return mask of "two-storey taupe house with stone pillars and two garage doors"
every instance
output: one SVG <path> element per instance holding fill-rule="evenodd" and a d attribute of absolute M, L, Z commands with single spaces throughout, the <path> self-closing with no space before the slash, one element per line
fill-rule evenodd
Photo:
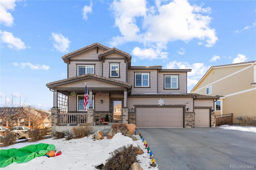
<path fill-rule="evenodd" d="M 100 43 L 62 59 L 67 64 L 67 79 L 46 84 L 54 93 L 52 126 L 56 128 L 100 125 L 106 114 L 112 123 L 137 127 L 214 127 L 212 110 L 218 97 L 187 93 L 191 69 L 132 66 L 130 54 Z M 87 111 L 83 109 L 85 83 Z"/>

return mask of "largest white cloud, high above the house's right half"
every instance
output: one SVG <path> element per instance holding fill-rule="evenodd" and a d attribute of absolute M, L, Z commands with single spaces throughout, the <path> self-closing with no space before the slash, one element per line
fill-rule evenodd
<path fill-rule="evenodd" d="M 198 39 L 206 42 L 206 47 L 216 43 L 216 31 L 210 28 L 212 18 L 207 15 L 211 8 L 202 8 L 203 4 L 192 6 L 186 0 L 164 3 L 155 1 L 154 6 L 147 6 L 146 0 L 115 0 L 111 9 L 121 35 L 113 37 L 111 45 L 140 42 L 144 49 L 158 50 L 154 53 L 160 55 L 159 49 L 164 50 L 168 42 L 177 40 L 188 43 Z"/>

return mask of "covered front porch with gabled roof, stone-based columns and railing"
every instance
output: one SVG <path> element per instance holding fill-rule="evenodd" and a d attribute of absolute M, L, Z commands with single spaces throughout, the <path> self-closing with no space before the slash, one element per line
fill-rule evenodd
<path fill-rule="evenodd" d="M 88 105 L 83 109 L 85 83 Z M 53 91 L 52 126 L 102 125 L 108 114 L 110 123 L 128 123 L 127 96 L 132 85 L 85 74 L 47 84 Z"/>

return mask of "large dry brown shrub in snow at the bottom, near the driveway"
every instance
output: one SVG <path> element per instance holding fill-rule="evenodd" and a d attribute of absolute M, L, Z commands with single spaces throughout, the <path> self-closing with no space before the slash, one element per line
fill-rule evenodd
<path fill-rule="evenodd" d="M 129 170 L 130 166 L 137 161 L 138 148 L 132 146 L 123 146 L 122 150 L 111 152 L 112 158 L 108 159 L 102 170 Z"/>

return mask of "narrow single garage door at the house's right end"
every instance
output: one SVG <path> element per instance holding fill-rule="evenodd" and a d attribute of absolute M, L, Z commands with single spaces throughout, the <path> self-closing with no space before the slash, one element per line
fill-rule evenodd
<path fill-rule="evenodd" d="M 195 109 L 195 127 L 210 127 L 209 109 Z"/>

